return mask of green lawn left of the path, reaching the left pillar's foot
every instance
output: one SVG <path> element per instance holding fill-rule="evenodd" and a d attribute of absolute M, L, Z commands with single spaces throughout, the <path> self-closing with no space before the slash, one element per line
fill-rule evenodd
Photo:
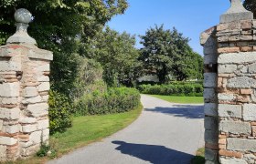
<path fill-rule="evenodd" d="M 140 106 L 129 112 L 73 118 L 72 127 L 63 133 L 50 136 L 50 148 L 57 150 L 57 157 L 67 154 L 69 151 L 84 147 L 91 142 L 111 136 L 113 133 L 127 127 L 139 117 L 143 107 Z M 49 158 L 34 157 L 9 164 L 45 163 Z"/>

